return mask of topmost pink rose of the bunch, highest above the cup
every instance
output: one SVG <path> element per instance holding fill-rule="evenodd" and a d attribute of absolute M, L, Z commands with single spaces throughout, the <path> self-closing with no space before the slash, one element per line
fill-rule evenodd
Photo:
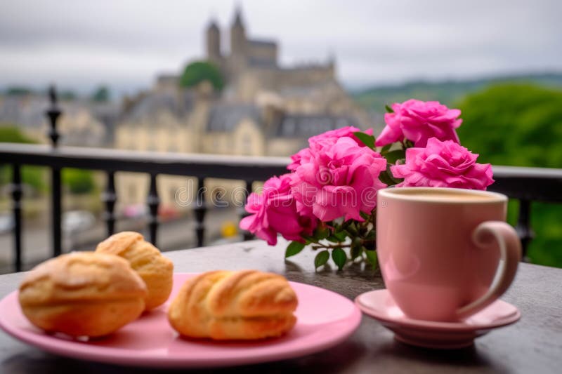
<path fill-rule="evenodd" d="M 384 114 L 384 127 L 375 145 L 381 147 L 405 138 L 415 147 L 425 147 L 429 138 L 459 142 L 455 128 L 461 126 L 459 109 L 449 109 L 438 101 L 410 99 L 392 105 L 394 113 Z"/>

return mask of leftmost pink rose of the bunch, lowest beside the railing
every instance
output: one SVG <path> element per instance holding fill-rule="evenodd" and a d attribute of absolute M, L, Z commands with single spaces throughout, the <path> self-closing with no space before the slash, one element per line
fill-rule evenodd
<path fill-rule="evenodd" d="M 261 194 L 252 192 L 246 203 L 246 211 L 252 214 L 240 220 L 240 228 L 256 234 L 271 246 L 277 243 L 277 233 L 297 241 L 303 240 L 301 233 L 310 235 L 316 222 L 296 212 L 289 182 L 289 174 L 273 177 L 265 182 Z"/>

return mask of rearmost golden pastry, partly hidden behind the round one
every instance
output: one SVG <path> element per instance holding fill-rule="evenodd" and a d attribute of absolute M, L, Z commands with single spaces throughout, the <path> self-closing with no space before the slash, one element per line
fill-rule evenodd
<path fill-rule="evenodd" d="M 96 253 L 110 253 L 129 261 L 148 288 L 147 310 L 168 300 L 174 282 L 174 264 L 138 232 L 124 231 L 112 235 L 98 244 Z"/>

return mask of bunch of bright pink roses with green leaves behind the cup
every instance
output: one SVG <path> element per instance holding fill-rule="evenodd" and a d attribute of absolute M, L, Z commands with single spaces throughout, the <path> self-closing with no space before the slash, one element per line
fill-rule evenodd
<path fill-rule="evenodd" d="M 386 126 L 346 127 L 308 140 L 291 156 L 289 173 L 270 178 L 251 193 L 249 215 L 240 221 L 270 245 L 277 234 L 292 241 L 285 257 L 310 245 L 315 267 L 331 257 L 339 269 L 367 260 L 377 267 L 377 191 L 386 187 L 486 189 L 494 182 L 489 163 L 462 147 L 455 131 L 459 109 L 439 102 L 407 100 L 386 107 Z"/>

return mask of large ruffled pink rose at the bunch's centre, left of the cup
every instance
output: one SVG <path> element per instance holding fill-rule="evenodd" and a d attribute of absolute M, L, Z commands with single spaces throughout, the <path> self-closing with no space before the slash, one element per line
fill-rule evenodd
<path fill-rule="evenodd" d="M 379 181 L 384 170 L 386 160 L 352 138 L 325 142 L 322 149 L 310 150 L 291 174 L 296 209 L 323 222 L 340 217 L 362 221 L 360 212 L 371 213 L 377 190 L 386 187 Z"/>

